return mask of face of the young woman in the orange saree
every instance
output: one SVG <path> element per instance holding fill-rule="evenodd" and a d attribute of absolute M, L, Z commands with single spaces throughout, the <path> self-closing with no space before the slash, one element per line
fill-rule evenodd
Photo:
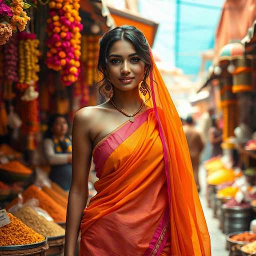
<path fill-rule="evenodd" d="M 132 43 L 116 41 L 107 56 L 108 79 L 120 90 L 134 89 L 144 77 L 145 63 Z"/>

